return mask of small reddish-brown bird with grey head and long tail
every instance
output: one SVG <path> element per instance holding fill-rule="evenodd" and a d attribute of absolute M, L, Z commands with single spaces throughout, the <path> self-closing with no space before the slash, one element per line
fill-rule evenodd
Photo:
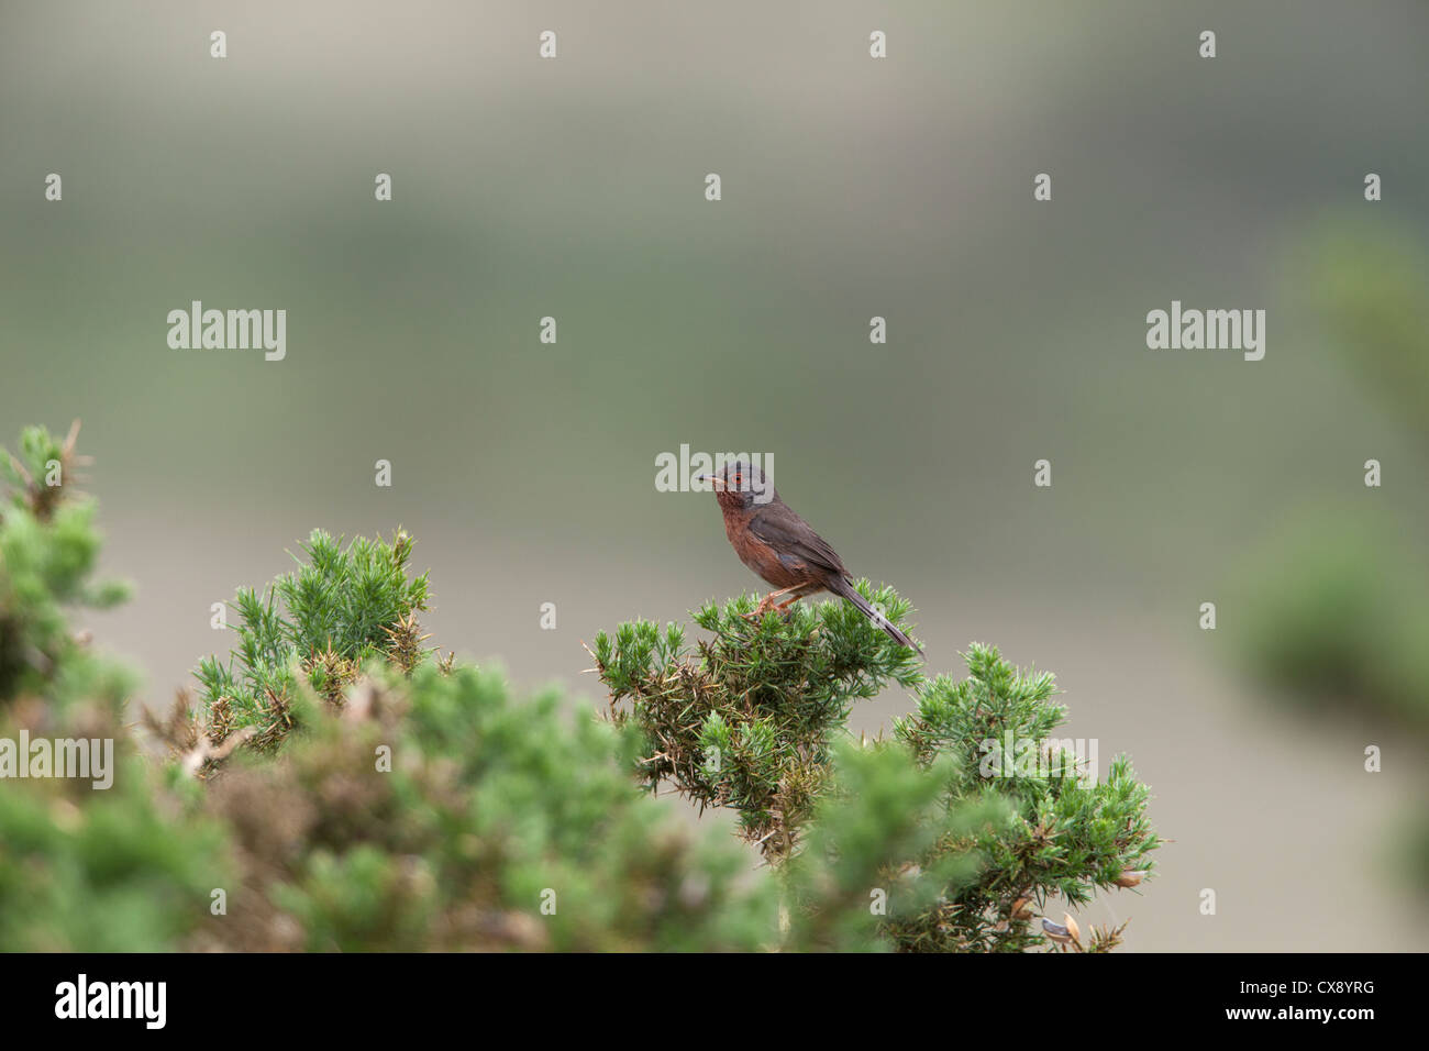
<path fill-rule="evenodd" d="M 739 561 L 777 589 L 760 599 L 753 616 L 787 609 L 805 595 L 827 591 L 857 606 L 899 645 L 923 655 L 922 646 L 859 595 L 843 559 L 780 499 L 777 489 L 766 486 L 757 465 L 735 460 L 714 473 L 696 475 L 696 480 L 709 482 L 714 490 L 725 515 L 725 535 Z M 763 502 L 756 499 L 766 495 Z M 776 603 L 785 595 L 789 598 Z"/>

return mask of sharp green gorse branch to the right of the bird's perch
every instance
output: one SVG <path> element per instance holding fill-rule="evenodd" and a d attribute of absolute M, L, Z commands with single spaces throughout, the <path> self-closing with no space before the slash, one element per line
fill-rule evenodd
<path fill-rule="evenodd" d="M 1099 781 L 1052 736 L 1065 716 L 1050 704 L 1052 675 L 1023 675 L 979 643 L 969 648 L 967 672 L 960 682 L 930 682 L 895 736 L 937 772 L 949 815 L 993 815 L 963 821 L 966 831 L 940 839 L 933 855 L 972 854 L 980 865 L 936 908 L 896 924 L 895 937 L 916 948 L 1020 949 L 1043 934 L 1017 918 L 1019 901 L 1043 908 L 1056 894 L 1083 905 L 1096 889 L 1137 885 L 1160 841 L 1146 816 L 1150 789 L 1125 755 Z"/>

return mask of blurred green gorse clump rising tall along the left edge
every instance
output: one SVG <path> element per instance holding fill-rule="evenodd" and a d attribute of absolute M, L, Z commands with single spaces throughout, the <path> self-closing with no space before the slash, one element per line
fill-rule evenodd
<path fill-rule="evenodd" d="M 121 724 L 133 676 L 71 625 L 126 592 L 91 581 L 100 538 L 74 490 L 77 432 L 61 443 L 29 428 L 19 455 L 0 450 L 0 949 L 173 948 L 227 879 L 224 837 L 136 752 Z M 111 741 L 111 786 L 16 779 L 9 762 L 36 738 Z"/>

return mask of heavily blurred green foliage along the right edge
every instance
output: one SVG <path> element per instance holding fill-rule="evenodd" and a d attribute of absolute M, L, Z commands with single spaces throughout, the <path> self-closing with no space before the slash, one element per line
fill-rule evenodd
<path fill-rule="evenodd" d="M 1358 709 L 1390 732 L 1423 739 L 1429 565 L 1413 479 L 1429 470 L 1429 250 L 1403 226 L 1356 214 L 1318 223 L 1292 246 L 1288 263 L 1295 310 L 1318 322 L 1346 376 L 1408 445 L 1366 449 L 1373 468 L 1368 459 L 1352 465 L 1366 475 L 1385 472 L 1385 489 L 1363 493 L 1376 493 L 1372 499 L 1352 499 L 1353 510 L 1343 499 L 1306 506 L 1296 526 L 1269 533 L 1232 568 L 1229 589 L 1239 592 L 1248 625 L 1235 655 L 1266 698 L 1310 715 Z M 1396 479 L 1409 480 L 1399 496 Z M 1408 831 L 1388 852 L 1410 881 L 1429 888 L 1429 814 L 1416 801 L 1403 824 Z"/>

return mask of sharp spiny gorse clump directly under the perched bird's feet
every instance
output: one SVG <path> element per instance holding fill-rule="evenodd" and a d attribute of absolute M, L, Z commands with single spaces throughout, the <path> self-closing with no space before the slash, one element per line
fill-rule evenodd
<path fill-rule="evenodd" d="M 909 611 L 890 588 L 857 588 L 893 623 Z M 614 722 L 650 744 L 637 769 L 644 786 L 669 781 L 702 806 L 732 806 L 746 838 L 777 858 L 826 786 L 830 745 L 853 704 L 922 673 L 913 651 L 849 603 L 795 605 L 786 618 L 750 622 L 753 609 L 747 595 L 703 606 L 694 622 L 713 638 L 694 648 L 679 625 L 624 623 L 614 638 L 600 632 L 592 655 Z"/>

